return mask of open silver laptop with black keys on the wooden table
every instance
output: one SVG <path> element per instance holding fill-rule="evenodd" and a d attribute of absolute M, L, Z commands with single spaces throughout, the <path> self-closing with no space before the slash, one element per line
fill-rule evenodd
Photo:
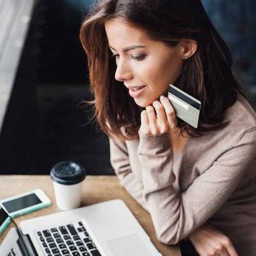
<path fill-rule="evenodd" d="M 0 209 L 1 256 L 159 256 L 121 200 L 57 212 L 20 222 Z M 3 225 L 2 225 L 3 227 Z"/>

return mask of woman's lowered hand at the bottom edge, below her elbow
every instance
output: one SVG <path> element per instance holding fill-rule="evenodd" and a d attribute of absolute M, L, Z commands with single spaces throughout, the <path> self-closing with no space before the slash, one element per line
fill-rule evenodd
<path fill-rule="evenodd" d="M 201 256 L 238 256 L 230 238 L 208 224 L 195 230 L 189 239 Z"/>

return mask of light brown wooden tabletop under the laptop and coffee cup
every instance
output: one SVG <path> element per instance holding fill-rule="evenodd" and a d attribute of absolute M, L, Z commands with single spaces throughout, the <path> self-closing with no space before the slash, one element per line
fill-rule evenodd
<path fill-rule="evenodd" d="M 55 196 L 53 184 L 49 176 L 35 176 L 35 175 L 1 175 L 0 176 L 0 200 L 11 195 L 16 195 L 21 192 L 26 192 L 31 189 L 43 189 L 52 201 L 52 206 L 32 212 L 16 218 L 19 223 L 20 220 L 26 218 L 33 218 L 52 212 L 60 212 L 55 205 Z M 83 198 L 82 207 L 89 206 L 102 201 L 109 201 L 113 199 L 121 199 L 125 201 L 133 215 L 137 218 L 138 222 L 143 226 L 143 229 L 148 233 L 154 246 L 164 256 L 179 256 L 178 247 L 166 246 L 157 241 L 154 226 L 150 215 L 143 207 L 140 207 L 130 195 L 127 194 L 125 189 L 119 185 L 119 180 L 114 176 L 88 176 L 83 184 Z"/>

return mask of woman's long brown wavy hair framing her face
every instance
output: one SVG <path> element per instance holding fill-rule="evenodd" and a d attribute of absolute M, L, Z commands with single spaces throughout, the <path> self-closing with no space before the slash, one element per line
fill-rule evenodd
<path fill-rule="evenodd" d="M 199 137 L 221 129 L 224 112 L 244 95 L 231 71 L 232 57 L 200 0 L 102 0 L 85 17 L 80 40 L 88 58 L 90 89 L 98 124 L 109 137 L 132 139 L 141 125 L 140 113 L 124 84 L 114 79 L 116 63 L 111 58 L 104 24 L 121 17 L 143 29 L 149 38 L 173 47 L 180 39 L 198 44 L 195 55 L 183 61 L 175 85 L 201 101 L 198 128 L 178 119 L 181 131 Z M 173 42 L 177 41 L 177 42 Z M 125 132 L 124 132 L 125 131 Z"/>

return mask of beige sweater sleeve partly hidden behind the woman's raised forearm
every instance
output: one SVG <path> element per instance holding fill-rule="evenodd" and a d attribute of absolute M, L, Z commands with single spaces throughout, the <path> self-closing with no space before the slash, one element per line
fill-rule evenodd
<path fill-rule="evenodd" d="M 119 178 L 120 184 L 146 210 L 148 207 L 143 197 L 143 183 L 131 171 L 129 154 L 125 142 L 109 139 L 110 162 Z"/>

